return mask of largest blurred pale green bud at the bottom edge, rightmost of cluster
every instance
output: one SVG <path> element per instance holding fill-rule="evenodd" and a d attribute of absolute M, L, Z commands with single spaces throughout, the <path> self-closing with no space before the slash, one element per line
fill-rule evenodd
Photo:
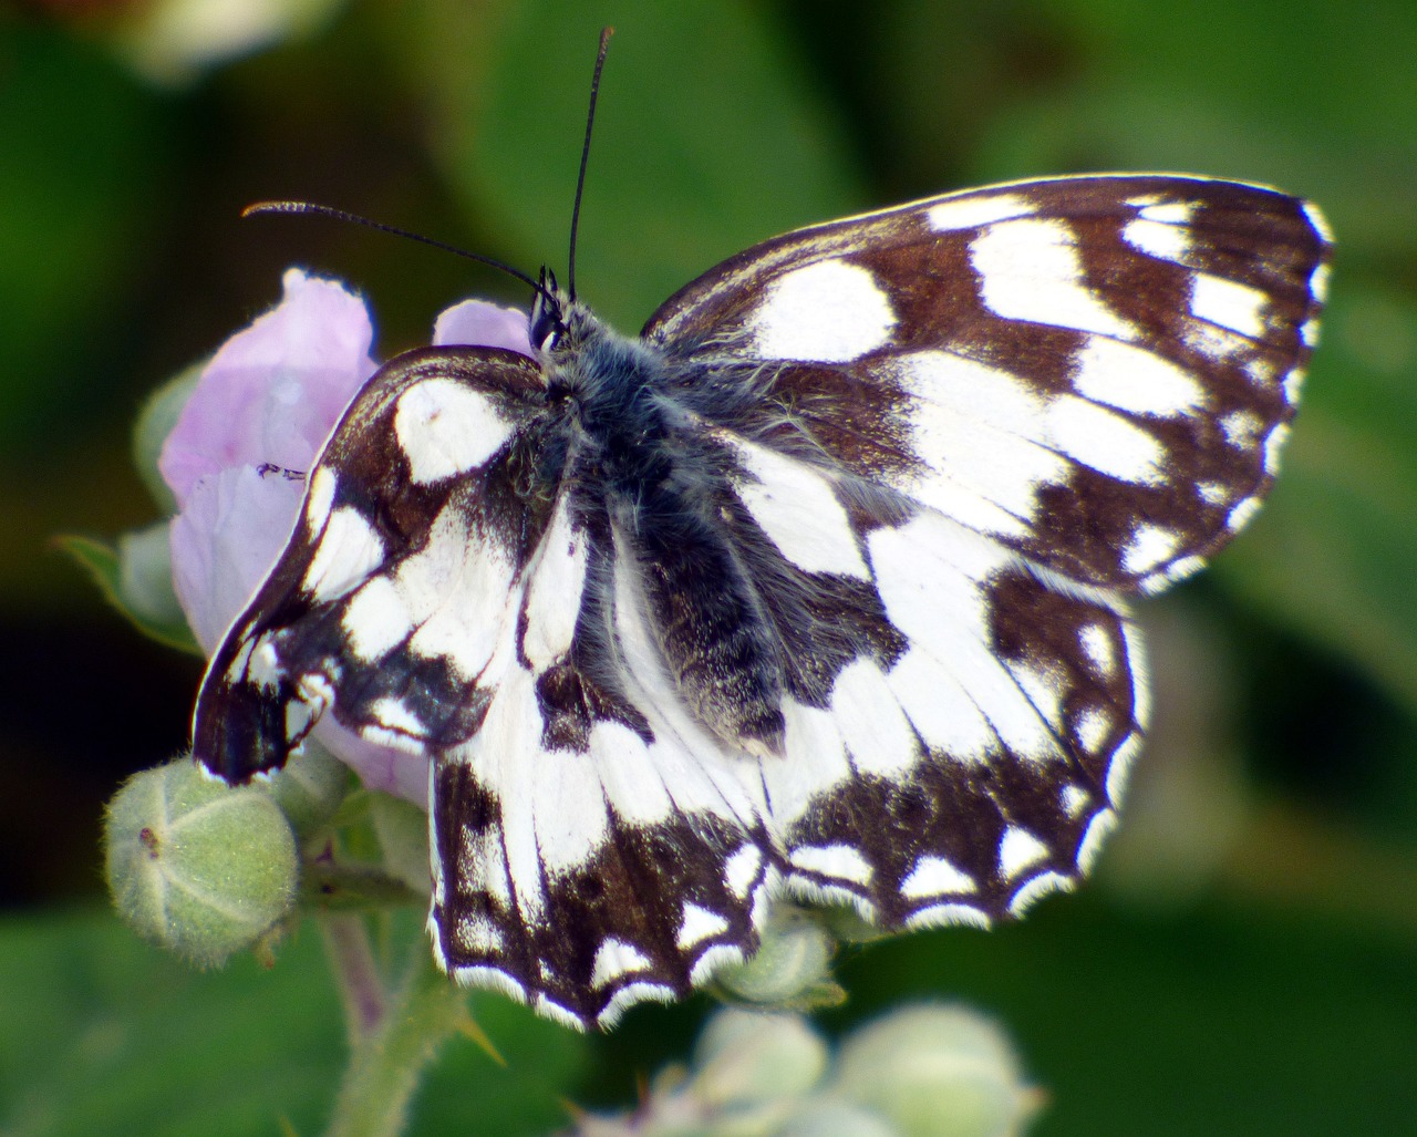
<path fill-rule="evenodd" d="M 842 1045 L 836 1093 L 904 1137 L 1005 1137 L 1037 1094 L 1003 1032 L 962 1007 L 908 1007 Z"/>

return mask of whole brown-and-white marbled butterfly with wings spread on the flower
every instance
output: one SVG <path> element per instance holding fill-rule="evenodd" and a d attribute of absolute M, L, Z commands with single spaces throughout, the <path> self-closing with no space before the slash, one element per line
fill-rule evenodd
<path fill-rule="evenodd" d="M 1275 190 L 1019 181 L 798 230 L 638 337 L 387 363 L 217 649 L 194 753 L 429 757 L 438 963 L 577 1026 L 1071 886 L 1146 724 L 1131 601 L 1270 488 L 1331 237 Z"/>

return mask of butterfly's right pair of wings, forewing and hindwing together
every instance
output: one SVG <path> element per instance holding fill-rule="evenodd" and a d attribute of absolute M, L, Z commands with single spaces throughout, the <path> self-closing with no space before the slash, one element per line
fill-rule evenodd
<path fill-rule="evenodd" d="M 791 887 L 988 922 L 1085 869 L 1146 720 L 1125 595 L 1258 505 L 1326 258 L 1272 190 L 1060 179 L 788 234 L 649 322 L 784 614 Z"/>

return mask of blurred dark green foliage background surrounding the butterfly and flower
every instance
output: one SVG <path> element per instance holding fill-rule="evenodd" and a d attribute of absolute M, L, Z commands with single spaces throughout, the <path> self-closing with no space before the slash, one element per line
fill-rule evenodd
<path fill-rule="evenodd" d="M 272 27 L 234 43 L 258 10 Z M 344 1042 L 313 930 L 273 970 L 196 974 L 105 907 L 102 802 L 183 746 L 198 662 L 130 631 L 52 536 L 156 519 L 128 457 L 145 393 L 289 264 L 364 289 L 384 356 L 462 296 L 527 299 L 247 203 L 563 269 L 606 23 L 578 281 L 622 330 L 754 241 L 992 180 L 1187 170 L 1328 213 L 1332 309 L 1284 475 L 1213 571 L 1145 605 L 1158 722 L 1097 879 L 1015 927 L 845 960 L 852 998 L 819 1021 L 989 1011 L 1047 1090 L 1039 1134 L 1417 1131 L 1410 0 L 34 0 L 0 9 L 0 1133 L 323 1123 Z M 595 1039 L 476 1007 L 510 1066 L 452 1043 L 415 1133 L 629 1106 L 707 1002 Z"/>

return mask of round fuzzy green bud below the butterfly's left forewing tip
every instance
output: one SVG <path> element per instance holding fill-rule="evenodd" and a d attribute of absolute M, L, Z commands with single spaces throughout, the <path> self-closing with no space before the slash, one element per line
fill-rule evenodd
<path fill-rule="evenodd" d="M 123 783 L 103 838 L 123 919 L 203 967 L 254 943 L 295 900 L 295 836 L 276 804 L 187 760 Z"/>

